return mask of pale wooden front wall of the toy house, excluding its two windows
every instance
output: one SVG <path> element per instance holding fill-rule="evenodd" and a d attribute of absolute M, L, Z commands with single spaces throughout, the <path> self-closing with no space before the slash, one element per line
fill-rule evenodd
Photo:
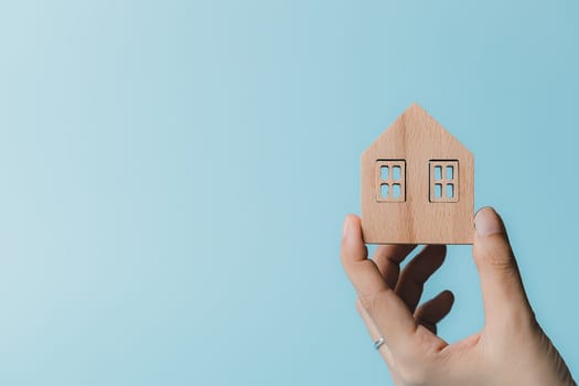
<path fill-rule="evenodd" d="M 406 201 L 376 202 L 376 161 L 406 160 Z M 429 201 L 429 161 L 459 161 L 455 203 Z M 474 160 L 454 137 L 414 105 L 362 154 L 362 228 L 368 244 L 472 244 Z M 457 187 L 455 187 L 457 189 Z"/>

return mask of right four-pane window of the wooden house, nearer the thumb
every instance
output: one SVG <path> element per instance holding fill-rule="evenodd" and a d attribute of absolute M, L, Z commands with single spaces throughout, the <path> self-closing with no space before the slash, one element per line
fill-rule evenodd
<path fill-rule="evenodd" d="M 459 161 L 430 160 L 430 202 L 459 201 Z"/>

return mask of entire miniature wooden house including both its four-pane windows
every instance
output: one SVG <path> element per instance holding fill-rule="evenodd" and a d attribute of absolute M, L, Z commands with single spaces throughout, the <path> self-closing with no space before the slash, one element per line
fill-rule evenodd
<path fill-rule="evenodd" d="M 368 244 L 472 244 L 474 158 L 414 104 L 362 154 Z"/>

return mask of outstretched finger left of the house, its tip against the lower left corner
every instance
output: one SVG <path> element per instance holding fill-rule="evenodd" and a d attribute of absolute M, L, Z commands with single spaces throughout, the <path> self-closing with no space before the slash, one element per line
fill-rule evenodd
<path fill-rule="evenodd" d="M 360 218 L 346 216 L 342 237 L 342 265 L 354 285 L 362 305 L 376 323 L 390 350 L 404 344 L 416 330 L 416 322 L 404 302 L 384 281 L 378 267 L 367 259 Z"/>

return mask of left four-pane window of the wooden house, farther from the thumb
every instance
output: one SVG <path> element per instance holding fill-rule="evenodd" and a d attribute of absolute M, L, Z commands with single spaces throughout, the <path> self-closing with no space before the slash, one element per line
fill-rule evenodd
<path fill-rule="evenodd" d="M 377 160 L 376 186 L 377 202 L 405 202 L 406 161 Z"/>

